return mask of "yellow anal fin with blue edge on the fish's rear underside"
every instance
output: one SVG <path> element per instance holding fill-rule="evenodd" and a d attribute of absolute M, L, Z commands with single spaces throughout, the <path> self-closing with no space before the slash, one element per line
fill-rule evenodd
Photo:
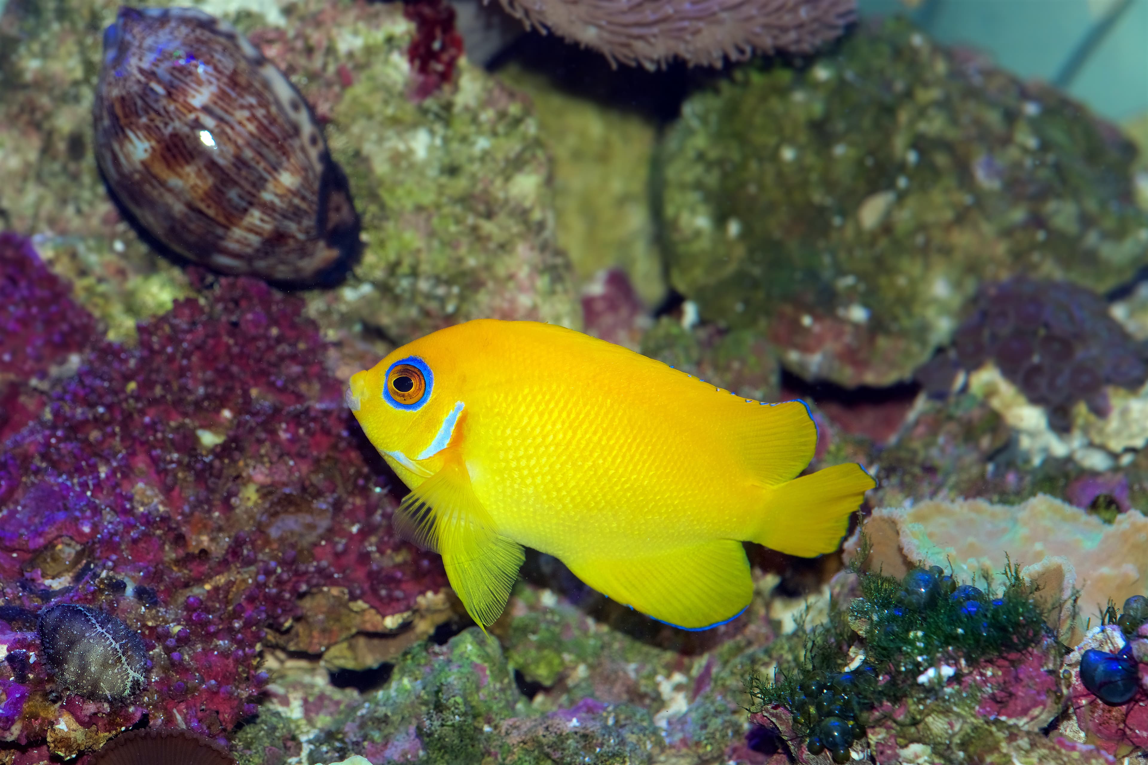
<path fill-rule="evenodd" d="M 729 621 L 753 596 L 750 562 L 742 543 L 734 540 L 657 555 L 564 563 L 599 593 L 683 629 Z"/>

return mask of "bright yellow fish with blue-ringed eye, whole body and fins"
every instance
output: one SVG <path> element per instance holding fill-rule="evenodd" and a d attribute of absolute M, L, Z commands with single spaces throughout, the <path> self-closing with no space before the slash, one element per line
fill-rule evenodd
<path fill-rule="evenodd" d="M 817 440 L 800 401 L 535 322 L 428 334 L 351 377 L 347 402 L 411 487 L 400 532 L 442 555 L 483 626 L 523 544 L 654 619 L 716 626 L 750 603 L 743 540 L 830 552 L 875 486 L 852 463 L 797 478 Z"/>

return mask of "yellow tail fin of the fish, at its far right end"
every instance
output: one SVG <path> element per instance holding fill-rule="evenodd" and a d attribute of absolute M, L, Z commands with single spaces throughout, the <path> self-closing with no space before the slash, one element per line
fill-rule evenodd
<path fill-rule="evenodd" d="M 833 465 L 775 486 L 761 527 L 751 541 L 804 557 L 832 552 L 864 493 L 876 486 L 856 463 Z"/>

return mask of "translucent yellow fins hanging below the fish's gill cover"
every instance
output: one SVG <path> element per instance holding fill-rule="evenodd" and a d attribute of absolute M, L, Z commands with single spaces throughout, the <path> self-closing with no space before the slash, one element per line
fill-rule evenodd
<path fill-rule="evenodd" d="M 442 556 L 450 586 L 480 627 L 498 618 L 522 565 L 522 546 L 498 534 L 460 457 L 449 455 L 442 470 L 406 495 L 395 527 Z"/>

